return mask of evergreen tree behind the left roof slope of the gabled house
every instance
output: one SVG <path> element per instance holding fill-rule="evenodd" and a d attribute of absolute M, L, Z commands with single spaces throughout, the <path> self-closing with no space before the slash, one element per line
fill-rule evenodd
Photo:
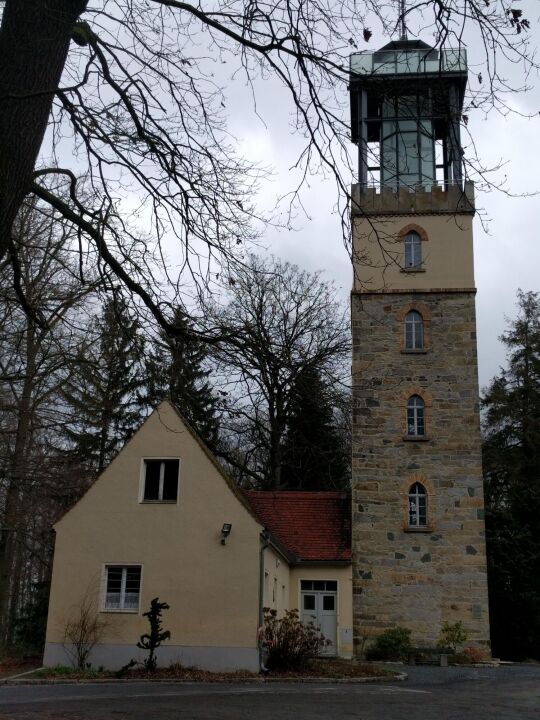
<path fill-rule="evenodd" d="M 143 352 L 139 322 L 126 301 L 107 300 L 80 348 L 80 371 L 64 391 L 77 418 L 66 428 L 72 449 L 97 472 L 141 422 Z"/>

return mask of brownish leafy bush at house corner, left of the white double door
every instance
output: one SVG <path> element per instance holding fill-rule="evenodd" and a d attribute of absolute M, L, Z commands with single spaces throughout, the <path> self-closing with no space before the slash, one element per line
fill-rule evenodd
<path fill-rule="evenodd" d="M 268 652 L 268 670 L 301 670 L 330 643 L 313 623 L 304 624 L 298 610 L 287 610 L 282 618 L 264 608 L 261 642 Z"/>

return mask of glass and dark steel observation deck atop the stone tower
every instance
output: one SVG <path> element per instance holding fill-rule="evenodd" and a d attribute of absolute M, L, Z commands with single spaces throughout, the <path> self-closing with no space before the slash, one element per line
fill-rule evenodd
<path fill-rule="evenodd" d="M 467 53 L 392 41 L 350 58 L 351 139 L 364 187 L 461 185 Z"/>

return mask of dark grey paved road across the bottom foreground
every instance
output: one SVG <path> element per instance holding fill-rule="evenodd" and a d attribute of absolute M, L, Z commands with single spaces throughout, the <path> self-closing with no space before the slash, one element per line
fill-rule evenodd
<path fill-rule="evenodd" d="M 540 720 L 540 667 L 406 668 L 406 682 L 0 687 L 0 720 Z"/>

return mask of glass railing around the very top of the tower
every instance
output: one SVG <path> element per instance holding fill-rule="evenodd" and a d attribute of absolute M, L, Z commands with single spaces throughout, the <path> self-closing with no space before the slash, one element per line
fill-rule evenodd
<path fill-rule="evenodd" d="M 466 74 L 467 51 L 453 48 L 369 50 L 350 56 L 350 70 L 352 75 Z"/>

